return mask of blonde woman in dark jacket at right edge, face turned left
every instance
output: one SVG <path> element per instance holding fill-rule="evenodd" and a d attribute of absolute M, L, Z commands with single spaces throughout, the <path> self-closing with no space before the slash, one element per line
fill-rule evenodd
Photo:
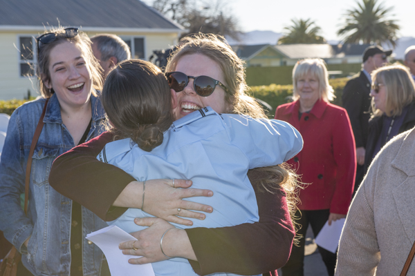
<path fill-rule="evenodd" d="M 365 171 L 387 141 L 415 126 L 415 82 L 409 70 L 396 63 L 375 70 L 372 76 Z"/>

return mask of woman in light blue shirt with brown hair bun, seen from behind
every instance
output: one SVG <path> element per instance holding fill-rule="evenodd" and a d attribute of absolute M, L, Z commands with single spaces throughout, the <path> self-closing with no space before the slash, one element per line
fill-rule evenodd
<path fill-rule="evenodd" d="M 201 76 L 196 77 L 195 83 L 198 78 L 211 81 Z M 213 88 L 205 86 L 200 92 L 210 94 L 212 91 L 207 90 Z M 100 161 L 122 168 L 143 181 L 144 187 L 145 179 L 168 175 L 192 179 L 194 188 L 210 188 L 214 193 L 213 197 L 197 199 L 199 203 L 215 206 L 212 214 L 203 221 L 192 219 L 192 226 L 174 224 L 162 237 L 167 233 L 179 236 L 183 228 L 258 221 L 255 193 L 246 177 L 248 168 L 282 164 L 302 148 L 301 135 L 282 121 L 219 115 L 210 107 L 174 121 L 169 107 L 177 106 L 177 92 L 169 88 L 161 70 L 147 61 L 120 63 L 108 75 L 101 99 L 113 126 L 110 132 L 119 140 L 104 147 L 98 155 Z M 145 190 L 143 193 L 145 200 Z M 146 205 L 142 201 L 141 210 L 130 208 L 110 224 L 128 233 L 147 228 L 133 224 L 136 217 L 151 217 L 145 213 Z M 129 250 L 140 248 L 137 241 L 130 244 Z M 181 254 L 180 248 L 166 242 L 163 248 L 160 241 L 160 250 L 166 260 L 152 264 L 156 275 L 196 275 L 186 259 L 172 258 Z"/>

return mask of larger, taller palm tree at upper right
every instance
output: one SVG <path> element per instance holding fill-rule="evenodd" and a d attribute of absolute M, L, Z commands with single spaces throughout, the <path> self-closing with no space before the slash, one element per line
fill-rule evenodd
<path fill-rule="evenodd" d="M 387 42 L 396 46 L 399 26 L 394 19 L 387 19 L 392 8 L 385 8 L 378 0 L 356 1 L 357 8 L 347 10 L 343 26 L 338 30 L 344 43 Z"/>

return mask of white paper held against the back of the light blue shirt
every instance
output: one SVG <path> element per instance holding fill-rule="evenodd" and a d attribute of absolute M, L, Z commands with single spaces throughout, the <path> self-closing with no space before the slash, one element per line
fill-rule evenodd
<path fill-rule="evenodd" d="M 118 226 L 108 226 L 86 235 L 86 239 L 101 248 L 107 258 L 111 276 L 154 276 L 151 264 L 129 264 L 128 260 L 137 256 L 124 255 L 118 244 L 137 240 Z"/>

